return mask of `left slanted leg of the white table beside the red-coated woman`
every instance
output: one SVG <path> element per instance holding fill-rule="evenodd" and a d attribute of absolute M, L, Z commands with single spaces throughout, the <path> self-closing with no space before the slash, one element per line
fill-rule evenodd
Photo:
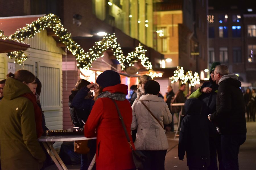
<path fill-rule="evenodd" d="M 44 147 L 46 148 L 46 151 L 48 152 L 48 154 L 51 156 L 51 158 L 52 158 L 53 162 L 55 163 L 55 165 L 57 166 L 57 168 L 60 170 L 67 170 L 67 167 L 65 166 L 65 164 L 59 157 L 58 153 L 52 146 L 51 142 L 42 142 L 42 143 L 43 143 Z"/>

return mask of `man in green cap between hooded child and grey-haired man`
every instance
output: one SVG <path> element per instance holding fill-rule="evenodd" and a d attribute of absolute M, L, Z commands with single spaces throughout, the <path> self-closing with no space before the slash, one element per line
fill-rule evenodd
<path fill-rule="evenodd" d="M 214 69 L 217 65 L 220 65 L 220 62 L 216 61 L 212 63 L 210 68 L 210 78 L 208 82 L 204 82 L 201 87 L 195 90 L 189 98 L 198 98 L 204 104 L 203 113 L 208 117 L 209 114 L 212 114 L 216 111 L 216 97 L 218 92 L 218 84 L 214 80 Z M 212 126 L 214 126 L 212 124 Z M 218 139 L 219 135 L 216 133 L 214 136 L 209 137 L 210 144 L 210 166 L 207 170 L 218 170 L 217 165 L 217 150 L 218 150 L 218 161 L 219 161 L 219 170 L 224 169 L 222 164 L 221 150 L 220 150 L 220 140 Z"/>

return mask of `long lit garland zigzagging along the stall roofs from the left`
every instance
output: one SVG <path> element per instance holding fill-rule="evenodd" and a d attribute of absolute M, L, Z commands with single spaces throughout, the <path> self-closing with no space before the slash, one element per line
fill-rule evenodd
<path fill-rule="evenodd" d="M 69 50 L 77 59 L 77 67 L 82 69 L 89 69 L 92 67 L 92 62 L 97 58 L 103 57 L 104 51 L 111 49 L 113 55 L 117 58 L 121 65 L 121 69 L 125 70 L 127 65 L 133 65 L 138 59 L 141 60 L 141 63 L 146 69 L 152 69 L 151 63 L 148 61 L 148 58 L 145 57 L 146 50 L 144 47 L 139 44 L 135 49 L 135 52 L 129 53 L 127 57 L 123 56 L 123 52 L 119 43 L 117 43 L 117 38 L 115 34 L 108 34 L 101 41 L 95 42 L 95 46 L 90 48 L 89 52 L 85 52 L 79 44 L 77 44 L 71 38 L 71 34 L 67 32 L 67 29 L 63 27 L 60 19 L 54 14 L 48 14 L 41 18 L 38 18 L 36 21 L 31 24 L 27 24 L 26 27 L 18 29 L 14 34 L 12 34 L 9 39 L 18 42 L 24 42 L 26 38 L 33 38 L 40 31 L 51 28 L 59 41 L 66 45 L 67 50 Z M 28 57 L 24 51 L 14 51 L 7 53 L 7 56 L 11 59 L 15 59 L 15 63 L 22 64 Z M 136 56 L 136 57 L 135 57 Z"/>

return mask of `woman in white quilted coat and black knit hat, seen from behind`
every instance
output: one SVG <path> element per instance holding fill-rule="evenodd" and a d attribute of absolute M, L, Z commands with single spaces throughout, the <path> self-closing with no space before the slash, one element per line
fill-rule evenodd
<path fill-rule="evenodd" d="M 162 170 L 164 169 L 166 151 L 169 147 L 163 127 L 164 124 L 172 122 L 172 114 L 164 99 L 157 96 L 160 91 L 158 82 L 149 80 L 146 82 L 144 90 L 145 95 L 142 95 L 140 100 L 136 100 L 132 105 L 131 129 L 137 129 L 134 145 L 147 157 L 143 163 L 143 169 Z"/>

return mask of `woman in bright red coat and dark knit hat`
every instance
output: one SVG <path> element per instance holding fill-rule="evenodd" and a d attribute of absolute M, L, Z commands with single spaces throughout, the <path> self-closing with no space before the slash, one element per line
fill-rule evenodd
<path fill-rule="evenodd" d="M 96 90 L 96 100 L 84 126 L 86 137 L 97 137 L 96 169 L 135 169 L 132 152 L 119 119 L 115 104 L 117 103 L 123 116 L 128 133 L 131 131 L 132 109 L 125 98 L 128 86 L 120 84 L 120 75 L 106 70 L 91 85 Z M 96 88 L 96 86 L 98 86 Z M 131 134 L 129 134 L 132 141 Z M 133 143 L 132 143 L 133 145 Z M 133 145 L 134 148 L 134 145 Z"/>

